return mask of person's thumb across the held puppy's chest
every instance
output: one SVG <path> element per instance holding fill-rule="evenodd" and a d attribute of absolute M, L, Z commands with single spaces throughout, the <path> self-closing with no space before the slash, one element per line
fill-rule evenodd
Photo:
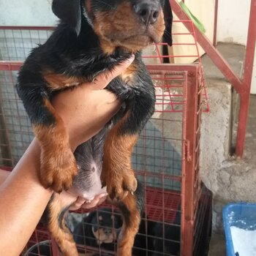
<path fill-rule="evenodd" d="M 106 86 L 108 86 L 108 83 L 110 83 L 111 80 L 116 78 L 118 75 L 121 75 L 121 72 L 124 72 L 127 67 L 129 67 L 130 64 L 132 64 L 132 61 L 134 61 L 135 56 L 132 55 L 129 59 L 121 62 L 121 64 L 118 64 L 116 67 L 114 67 L 111 71 L 105 71 L 101 74 L 97 75 L 96 78 L 94 78 L 94 89 L 104 89 Z"/>

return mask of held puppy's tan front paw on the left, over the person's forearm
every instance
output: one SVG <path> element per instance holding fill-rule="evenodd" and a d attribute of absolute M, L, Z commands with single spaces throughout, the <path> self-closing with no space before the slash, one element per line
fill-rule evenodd
<path fill-rule="evenodd" d="M 72 186 L 78 167 L 70 149 L 59 155 L 54 153 L 42 152 L 40 181 L 45 188 L 50 187 L 60 193 L 63 189 L 67 190 Z"/>

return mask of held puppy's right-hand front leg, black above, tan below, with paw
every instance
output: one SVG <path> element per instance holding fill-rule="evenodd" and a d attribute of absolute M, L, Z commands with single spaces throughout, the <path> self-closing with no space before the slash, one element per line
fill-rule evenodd
<path fill-rule="evenodd" d="M 136 88 L 146 86 L 145 91 L 130 97 L 126 102 L 124 117 L 110 130 L 105 140 L 101 180 L 102 185 L 107 186 L 111 199 L 123 199 L 128 192 L 133 193 L 137 188 L 131 163 L 132 151 L 141 129 L 154 113 L 155 102 L 154 86 L 150 76 L 147 77 L 146 74 L 145 69 L 146 85 L 141 80 L 134 82 Z"/>

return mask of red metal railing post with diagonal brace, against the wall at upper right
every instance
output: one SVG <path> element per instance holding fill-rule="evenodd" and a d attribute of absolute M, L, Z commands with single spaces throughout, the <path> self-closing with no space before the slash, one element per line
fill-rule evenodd
<path fill-rule="evenodd" d="M 170 0 L 173 12 L 176 13 L 180 20 L 189 20 L 187 14 L 181 9 L 180 5 L 176 0 Z M 187 23 L 184 26 L 192 33 L 192 30 Z M 223 59 L 219 51 L 214 48 L 209 39 L 195 27 L 195 36 L 197 41 L 206 51 L 211 61 L 219 68 L 225 78 L 232 84 L 238 94 L 241 96 L 241 106 L 238 118 L 238 135 L 236 140 L 236 155 L 237 157 L 243 157 L 244 154 L 244 143 L 246 135 L 246 124 L 249 111 L 249 94 L 252 80 L 252 67 L 253 58 L 255 54 L 255 43 L 256 43 L 256 0 L 251 0 L 251 10 L 249 17 L 249 29 L 246 46 L 246 59 L 244 66 L 244 80 L 238 78 L 233 72 L 230 65 Z"/>

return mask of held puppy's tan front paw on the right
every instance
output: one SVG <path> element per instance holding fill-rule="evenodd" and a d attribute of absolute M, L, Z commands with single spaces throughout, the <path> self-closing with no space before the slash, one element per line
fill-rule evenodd
<path fill-rule="evenodd" d="M 108 172 L 104 168 L 101 175 L 102 187 L 107 186 L 107 192 L 111 200 L 122 200 L 130 192 L 137 189 L 137 179 L 132 170 Z"/>

